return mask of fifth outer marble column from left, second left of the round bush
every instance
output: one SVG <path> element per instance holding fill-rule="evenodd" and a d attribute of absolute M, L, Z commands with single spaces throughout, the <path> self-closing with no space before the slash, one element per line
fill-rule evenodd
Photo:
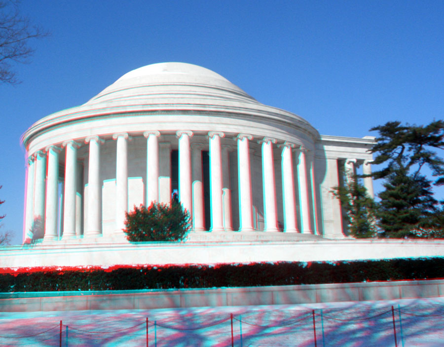
<path fill-rule="evenodd" d="M 102 235 L 102 182 L 100 180 L 100 145 L 103 139 L 91 136 L 85 139 L 89 143 L 88 161 L 88 209 L 86 237 Z"/>

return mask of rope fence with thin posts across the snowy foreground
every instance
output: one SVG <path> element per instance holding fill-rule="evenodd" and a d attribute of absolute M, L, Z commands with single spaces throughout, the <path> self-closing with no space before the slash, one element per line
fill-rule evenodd
<path fill-rule="evenodd" d="M 66 339 L 66 343 L 68 343 L 68 331 L 70 330 L 71 333 L 74 333 L 75 335 L 84 335 L 87 336 L 88 334 L 90 334 L 89 336 L 87 336 L 88 338 L 94 338 L 94 339 L 110 339 L 112 337 L 114 337 L 113 335 L 116 333 L 121 333 L 121 332 L 125 332 L 125 331 L 130 331 L 132 329 L 136 329 L 138 327 L 141 327 L 142 325 L 145 325 L 143 328 L 143 330 L 145 330 L 146 327 L 146 341 L 147 341 L 147 346 L 148 346 L 148 327 L 154 327 L 154 343 L 156 346 L 157 344 L 157 327 L 159 328 L 165 328 L 165 329 L 170 329 L 170 330 L 177 330 L 177 331 L 192 331 L 192 330 L 199 330 L 199 329 L 206 329 L 206 328 L 210 328 L 210 327 L 214 327 L 217 325 L 220 325 L 222 323 L 227 322 L 228 320 L 231 320 L 231 345 L 233 346 L 234 343 L 234 335 L 233 335 L 233 320 L 236 320 L 239 322 L 239 330 L 240 330 L 240 341 L 242 344 L 242 323 L 250 325 L 250 326 L 256 326 L 259 328 L 264 328 L 264 329 L 268 329 L 268 328 L 280 328 L 280 327 L 287 327 L 287 326 L 291 326 L 291 325 L 296 325 L 296 323 L 299 323 L 303 320 L 307 320 L 308 318 L 310 318 L 310 316 L 313 316 L 313 333 L 314 333 L 314 344 L 315 346 L 317 346 L 317 333 L 316 333 L 316 319 L 315 317 L 318 316 L 320 317 L 321 320 L 321 326 L 322 326 L 322 338 L 323 338 L 323 344 L 325 341 L 325 336 L 324 336 L 324 318 L 325 319 L 331 319 L 331 320 L 335 320 L 335 321 L 346 321 L 346 322 L 357 322 L 357 321 L 363 321 L 363 320 L 370 320 L 376 317 L 380 317 L 382 315 L 386 315 L 388 313 L 391 313 L 391 320 L 393 322 L 393 335 L 394 335 L 394 339 L 395 339 L 395 346 L 398 346 L 398 341 L 397 341 L 397 327 L 400 329 L 399 332 L 401 333 L 401 341 L 403 346 L 404 346 L 404 339 L 403 339 L 403 327 L 402 327 L 402 319 L 401 319 L 401 313 L 409 315 L 409 316 L 416 316 L 416 317 L 438 317 L 438 316 L 443 316 L 443 313 L 439 313 L 439 314 L 415 314 L 415 313 L 410 313 L 410 312 L 405 312 L 405 311 L 401 311 L 401 308 L 398 305 L 398 314 L 399 314 L 399 319 L 395 319 L 395 311 L 394 311 L 394 307 L 392 306 L 390 310 L 384 311 L 384 312 L 380 312 L 378 314 L 372 315 L 372 316 L 367 316 L 364 318 L 338 318 L 338 317 L 334 317 L 334 316 L 330 316 L 330 315 L 325 315 L 323 313 L 323 310 L 320 310 L 320 313 L 315 312 L 315 310 L 311 310 L 309 312 L 305 312 L 302 315 L 298 316 L 297 319 L 292 318 L 292 317 L 280 317 L 281 319 L 269 324 L 269 325 L 260 325 L 260 324 L 256 324 L 253 322 L 249 322 L 249 321 L 245 321 L 245 316 L 242 317 L 241 315 L 238 316 L 234 316 L 232 313 L 230 313 L 228 316 L 226 316 L 225 318 L 212 322 L 210 324 L 206 324 L 206 325 L 200 325 L 197 327 L 192 327 L 192 328 L 183 328 L 183 327 L 175 327 L 175 326 L 171 326 L 168 324 L 164 324 L 167 321 L 171 321 L 171 318 L 165 318 L 159 321 L 149 321 L 148 317 L 146 317 L 144 319 L 144 321 L 137 323 L 135 325 L 132 325 L 130 327 L 127 328 L 123 328 L 123 329 L 119 329 L 119 330 L 111 330 L 111 331 L 91 331 L 91 330 L 85 330 L 85 329 L 81 329 L 81 328 L 77 328 L 77 327 L 73 327 L 71 325 L 66 325 L 63 324 L 62 321 L 60 321 L 60 324 L 57 324 L 55 326 L 53 326 L 52 328 L 46 329 L 44 331 L 35 333 L 35 334 L 31 334 L 31 335 L 23 335 L 23 336 L 7 336 L 7 335 L 0 335 L 0 339 L 26 339 L 26 338 L 31 338 L 31 337 L 36 337 L 45 333 L 48 333 L 50 331 L 53 331 L 55 329 L 57 329 L 58 327 L 60 327 L 60 333 L 56 333 L 54 335 L 57 336 L 57 338 L 60 341 L 60 346 L 62 346 L 62 335 L 65 335 L 65 339 Z M 254 315 L 253 315 L 254 316 Z M 251 316 L 252 318 L 252 316 Z M 290 321 L 288 319 L 291 319 Z M 285 322 L 285 323 L 284 323 Z M 390 324 L 392 324 L 392 322 L 390 322 Z M 198 323 L 199 324 L 199 323 Z M 319 322 L 318 322 L 319 324 Z M 66 333 L 62 334 L 62 327 L 66 327 Z M 141 330 L 136 329 L 136 330 Z M 142 330 L 141 330 L 142 331 Z M 135 332 L 132 332 L 135 333 Z M 227 331 L 227 334 L 229 334 L 229 332 Z M 108 336 L 104 336 L 104 335 L 108 335 Z M 152 333 L 151 333 L 152 335 Z M 51 338 L 46 338 L 44 340 L 41 341 L 35 341 L 35 342 L 27 342 L 25 345 L 33 345 L 33 344 L 38 344 L 41 343 L 43 341 L 48 341 Z M 17 341 L 18 342 L 18 341 Z M 15 344 L 18 345 L 18 344 Z M 0 341 L 0 346 L 8 346 L 8 345 L 3 345 L 3 342 Z"/>

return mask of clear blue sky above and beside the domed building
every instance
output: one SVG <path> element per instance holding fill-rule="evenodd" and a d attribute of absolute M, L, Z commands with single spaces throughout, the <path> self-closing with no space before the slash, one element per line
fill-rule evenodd
<path fill-rule="evenodd" d="M 32 42 L 30 64 L 14 66 L 21 84 L 0 85 L 1 230 L 13 243 L 23 231 L 20 136 L 148 64 L 212 69 L 323 135 L 443 118 L 444 1 L 23 0 L 20 8 L 51 36 Z"/>

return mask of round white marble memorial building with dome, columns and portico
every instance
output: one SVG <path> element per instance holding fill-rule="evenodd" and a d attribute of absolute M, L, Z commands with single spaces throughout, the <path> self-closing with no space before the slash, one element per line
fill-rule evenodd
<path fill-rule="evenodd" d="M 25 237 L 125 242 L 125 211 L 174 194 L 193 235 L 348 235 L 334 186 L 370 173 L 373 137 L 320 135 L 216 72 L 185 63 L 132 70 L 26 131 Z M 345 177 L 345 178 L 343 178 Z M 371 178 L 364 184 L 373 195 Z"/>

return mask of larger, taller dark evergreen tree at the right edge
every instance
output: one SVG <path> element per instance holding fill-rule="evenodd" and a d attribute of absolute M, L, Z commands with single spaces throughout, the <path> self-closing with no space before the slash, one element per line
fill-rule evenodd
<path fill-rule="evenodd" d="M 444 226 L 443 211 L 433 197 L 432 184 L 444 184 L 444 161 L 435 152 L 435 149 L 444 148 L 444 121 L 426 126 L 387 122 L 370 131 L 379 132 L 378 142 L 371 149 L 377 154 L 373 163 L 386 164 L 371 174 L 376 179 L 386 179 L 377 208 L 377 217 L 384 230 L 382 235 L 430 236 L 430 233 L 421 232 L 423 228 L 440 234 L 439 225 Z M 436 177 L 434 182 L 421 174 L 426 166 Z"/>

